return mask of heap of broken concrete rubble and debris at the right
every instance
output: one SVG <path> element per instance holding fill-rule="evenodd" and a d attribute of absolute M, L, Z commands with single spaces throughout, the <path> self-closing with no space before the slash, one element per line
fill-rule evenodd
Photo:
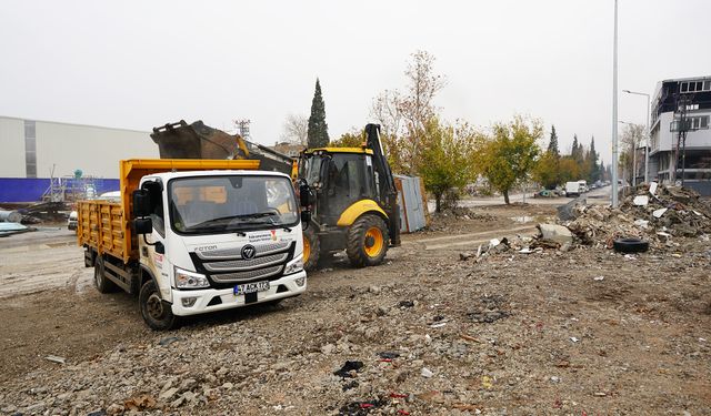
<path fill-rule="evenodd" d="M 711 206 L 693 190 L 652 184 L 640 185 L 618 209 L 578 204 L 573 220 L 562 221 L 580 243 L 612 247 L 620 237 L 638 237 L 655 248 L 674 247 L 673 237 L 708 239 Z"/>

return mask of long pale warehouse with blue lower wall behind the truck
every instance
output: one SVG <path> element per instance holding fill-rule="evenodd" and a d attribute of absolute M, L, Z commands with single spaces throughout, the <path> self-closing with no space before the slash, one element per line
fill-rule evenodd
<path fill-rule="evenodd" d="M 39 201 L 51 177 L 114 191 L 120 160 L 158 158 L 147 131 L 1 115 L 0 146 L 0 202 Z"/>

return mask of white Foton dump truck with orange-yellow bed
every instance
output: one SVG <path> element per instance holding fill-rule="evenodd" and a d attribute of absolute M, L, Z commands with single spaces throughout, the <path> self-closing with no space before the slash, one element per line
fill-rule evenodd
<path fill-rule="evenodd" d="M 138 294 L 151 328 L 306 291 L 310 193 L 298 203 L 288 175 L 252 160 L 120 163 L 120 202 L 78 203 L 78 243 L 99 292 Z"/>

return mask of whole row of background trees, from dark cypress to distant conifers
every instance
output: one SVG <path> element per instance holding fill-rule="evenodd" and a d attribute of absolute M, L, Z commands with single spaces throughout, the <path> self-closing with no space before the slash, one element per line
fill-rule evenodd
<path fill-rule="evenodd" d="M 592 183 L 602 177 L 604 166 L 594 138 L 584 146 L 575 135 L 571 153 L 562 155 L 554 126 L 547 149 L 540 146 L 544 130 L 538 119 L 515 115 L 489 129 L 474 128 L 463 120 L 448 122 L 434 105 L 434 98 L 447 84 L 447 79 L 434 71 L 434 57 L 417 51 L 404 75 L 405 89 L 382 91 L 372 100 L 370 112 L 381 125 L 381 140 L 393 172 L 422 177 L 438 212 L 455 203 L 472 183 L 483 182 L 500 192 L 508 204 L 512 190 L 531 181 L 553 189 L 567 181 L 585 179 Z M 296 121 L 300 126 L 294 126 Z M 308 121 L 290 116 L 284 124 L 284 132 L 289 131 L 299 132 L 299 141 L 309 148 L 358 146 L 364 141 L 361 129 L 329 140 L 318 80 L 311 115 Z"/>

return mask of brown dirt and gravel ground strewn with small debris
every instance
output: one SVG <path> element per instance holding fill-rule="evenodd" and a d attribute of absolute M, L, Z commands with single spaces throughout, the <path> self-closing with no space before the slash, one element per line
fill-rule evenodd
<path fill-rule="evenodd" d="M 94 290 L 64 227 L 0 239 L 0 413 L 711 415 L 711 243 L 460 260 L 554 215 L 439 215 L 381 266 L 167 333 Z"/>

